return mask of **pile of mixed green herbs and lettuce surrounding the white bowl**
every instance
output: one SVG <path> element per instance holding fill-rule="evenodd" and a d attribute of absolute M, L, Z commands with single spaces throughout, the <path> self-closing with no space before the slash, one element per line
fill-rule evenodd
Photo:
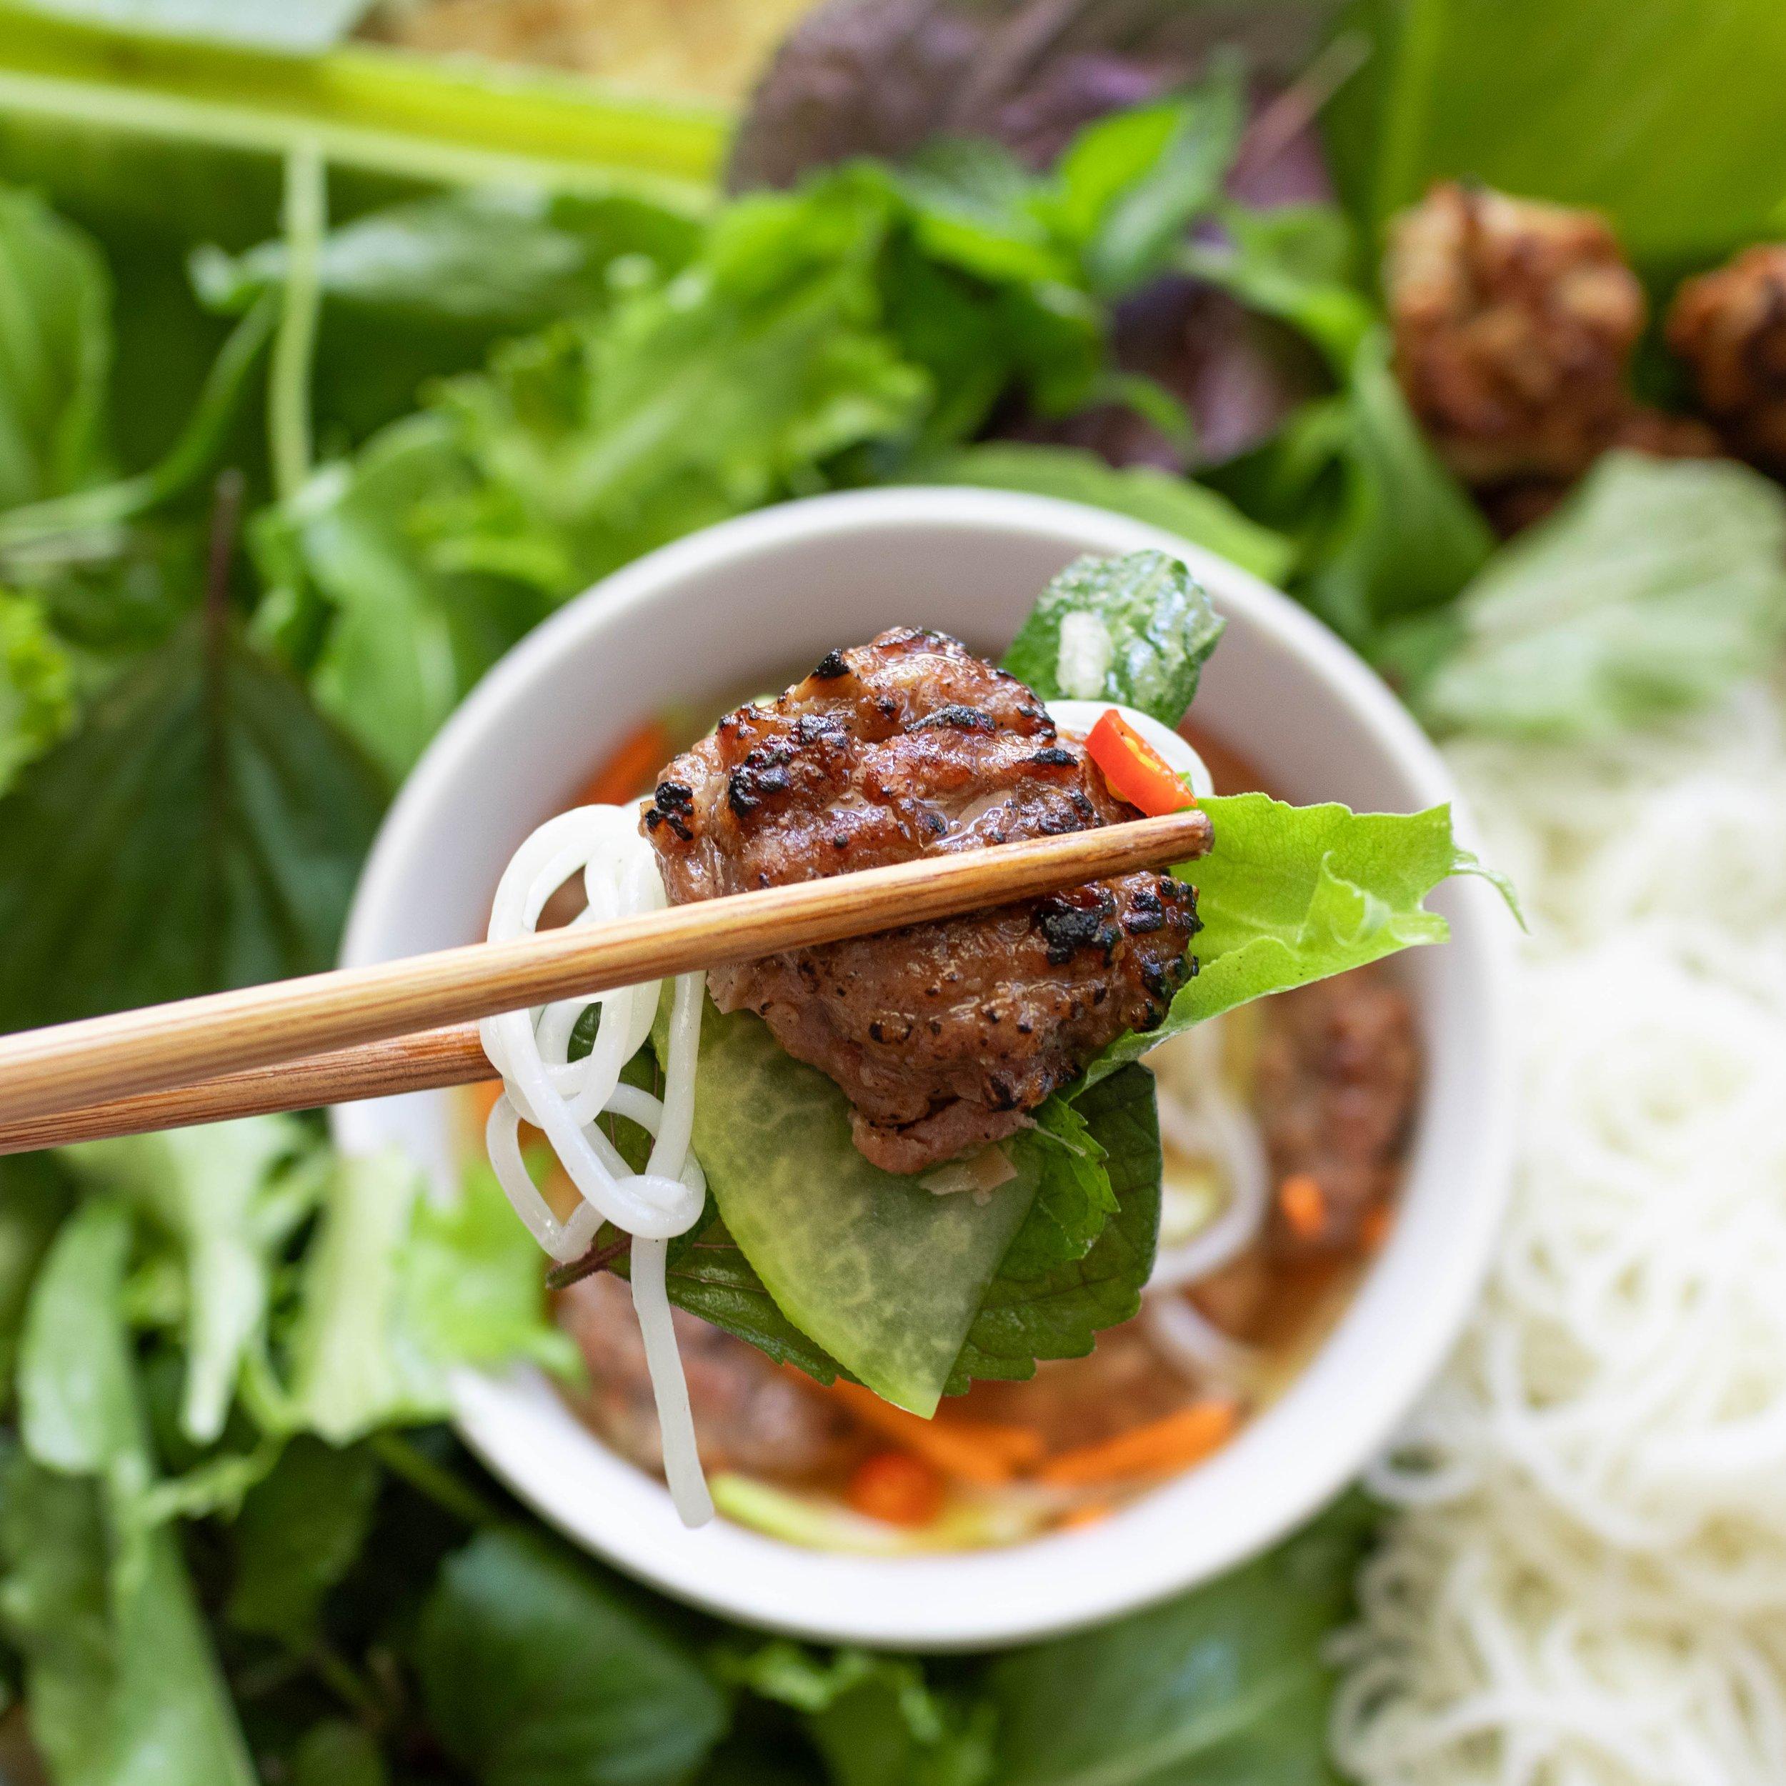
<path fill-rule="evenodd" d="M 1139 514 L 1289 586 L 1434 725 L 1573 736 L 1711 697 L 1779 638 L 1781 493 L 1615 457 L 1497 550 L 1402 404 L 1368 273 L 1436 175 L 1604 204 L 1657 279 L 1777 227 L 1773 11 L 1563 11 L 1352 9 L 1322 77 L 1340 196 L 1273 207 L 1236 171 L 1270 105 L 1207 59 L 1191 86 L 1081 59 L 1061 116 L 1139 104 L 1057 157 L 1025 114 L 814 168 L 795 104 L 752 141 L 793 130 L 772 161 L 811 171 L 713 207 L 368 168 L 298 129 L 238 154 L 200 100 L 130 136 L 14 82 L 0 1029 L 325 964 L 391 788 L 511 643 L 809 491 Z M 1595 79 L 1566 64 L 1613 41 Z M 1609 130 L 1645 55 L 1673 123 Z M 1127 352 L 1163 289 L 1295 361 L 1247 450 L 1206 450 L 1234 430 Z M 1075 432 L 1113 413 L 1156 463 Z M 489 1184 L 438 1209 L 307 1118 L 0 1161 L 0 1772 L 30 1779 L 34 1745 L 66 1786 L 1327 1777 L 1357 1509 L 1004 1657 L 764 1643 L 554 1543 L 436 1423 L 457 1365 L 566 1350 Z"/>

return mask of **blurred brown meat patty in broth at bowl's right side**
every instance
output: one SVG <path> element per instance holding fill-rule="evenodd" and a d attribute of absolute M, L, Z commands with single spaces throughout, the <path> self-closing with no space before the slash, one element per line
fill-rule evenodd
<path fill-rule="evenodd" d="M 1361 968 L 1282 993 L 1264 1006 L 1256 1107 L 1273 1181 L 1306 1172 L 1325 1220 L 1295 1234 L 1279 1216 L 1279 1256 L 1359 1243 L 1370 1211 L 1395 1193 L 1420 1086 L 1420 1045 L 1407 998 Z"/>

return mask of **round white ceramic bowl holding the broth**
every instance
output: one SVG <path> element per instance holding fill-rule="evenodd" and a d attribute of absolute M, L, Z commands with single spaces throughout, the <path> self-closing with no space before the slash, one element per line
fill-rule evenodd
<path fill-rule="evenodd" d="M 1327 629 L 1257 579 L 1100 509 L 972 489 L 822 497 L 713 527 L 609 577 L 479 684 L 379 834 L 343 959 L 482 936 L 504 863 L 666 698 L 780 680 L 898 623 L 997 654 L 1081 552 L 1182 557 L 1227 616 L 1197 720 L 1288 798 L 1411 811 L 1443 763 Z M 872 1559 L 723 1520 L 688 1532 L 663 1486 L 605 1450 L 536 1373 L 464 1375 L 459 1429 L 572 1538 L 666 1593 L 813 1638 L 959 1648 L 1084 1625 L 1189 1588 L 1313 1515 L 1382 1447 L 1477 1293 L 1509 1173 L 1509 922 L 1475 880 L 1436 904 L 1445 948 L 1404 957 L 1425 1084 L 1393 1238 L 1300 1381 L 1202 1468 L 1100 1525 L 1007 1550 Z M 452 1173 L 445 1093 L 343 1106 L 350 1152 L 400 1143 Z"/>

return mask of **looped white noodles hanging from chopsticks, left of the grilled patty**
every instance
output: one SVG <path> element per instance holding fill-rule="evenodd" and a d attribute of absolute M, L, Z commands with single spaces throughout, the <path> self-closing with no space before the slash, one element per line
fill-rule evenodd
<path fill-rule="evenodd" d="M 666 904 L 657 857 L 639 836 L 638 809 L 584 805 L 547 820 L 516 850 L 497 888 L 489 941 L 534 931 L 547 900 L 575 875 L 582 879 L 584 907 L 573 923 L 659 911 Z M 502 1097 L 486 1127 L 489 1163 L 527 1231 L 561 1261 L 584 1254 L 604 1220 L 632 1236 L 632 1306 L 657 1398 L 664 1479 L 688 1525 L 709 1520 L 713 1500 L 695 1448 L 664 1270 L 670 1241 L 695 1225 L 707 1197 L 700 1163 L 689 1150 L 704 989 L 700 973 L 684 973 L 675 982 L 661 1098 L 620 1077 L 652 1034 L 661 981 L 509 1011 L 480 1025 L 484 1052 L 502 1073 Z M 595 1038 L 589 1052 L 573 1061 L 572 1038 L 591 1006 L 600 1011 Z M 622 1157 L 600 1127 L 602 1116 L 623 1116 L 652 1136 L 643 1172 Z M 523 1122 L 545 1134 L 582 1198 L 564 1222 L 527 1170 Z"/>

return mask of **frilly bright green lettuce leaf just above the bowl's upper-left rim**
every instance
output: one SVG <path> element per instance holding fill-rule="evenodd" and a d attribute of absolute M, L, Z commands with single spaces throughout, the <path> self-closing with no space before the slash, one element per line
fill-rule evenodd
<path fill-rule="evenodd" d="M 488 488 L 436 518 L 441 561 L 563 597 L 913 429 L 929 386 L 880 327 L 888 221 L 841 180 L 743 200 L 675 279 L 454 384 Z"/>

